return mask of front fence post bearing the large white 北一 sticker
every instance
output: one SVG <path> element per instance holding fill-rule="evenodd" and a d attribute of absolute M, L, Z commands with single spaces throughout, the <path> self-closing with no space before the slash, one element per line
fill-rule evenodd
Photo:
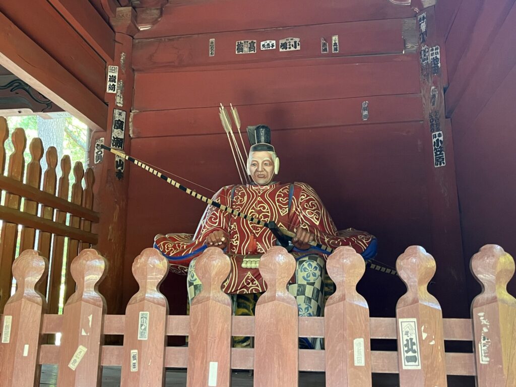
<path fill-rule="evenodd" d="M 436 261 L 420 246 L 398 257 L 396 269 L 407 293 L 396 304 L 400 387 L 446 386 L 441 306 L 427 291 Z"/>

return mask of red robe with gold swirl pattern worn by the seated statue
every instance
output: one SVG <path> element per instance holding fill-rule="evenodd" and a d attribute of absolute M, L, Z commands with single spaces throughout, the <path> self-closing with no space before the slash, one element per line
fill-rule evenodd
<path fill-rule="evenodd" d="M 315 235 L 319 244 L 337 248 L 351 246 L 364 252 L 374 236 L 354 229 L 337 231 L 333 220 L 312 187 L 305 183 L 268 185 L 230 185 L 221 188 L 213 200 L 265 222 L 273 220 L 280 228 L 294 231 L 303 226 Z M 225 293 L 257 293 L 266 287 L 257 267 L 249 265 L 252 259 L 276 245 L 270 230 L 240 217 L 230 215 L 209 205 L 195 235 L 157 235 L 154 246 L 168 257 L 171 270 L 186 274 L 189 262 L 205 248 L 206 236 L 222 230 L 229 235 L 227 254 L 231 260 L 229 278 L 223 285 Z M 299 258 L 308 254 L 324 254 L 321 250 L 295 249 Z M 254 261 L 257 262 L 257 261 Z"/>

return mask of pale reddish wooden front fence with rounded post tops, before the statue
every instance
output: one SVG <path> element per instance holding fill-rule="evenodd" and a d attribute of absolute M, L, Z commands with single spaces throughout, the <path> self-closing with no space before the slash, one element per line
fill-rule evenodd
<path fill-rule="evenodd" d="M 220 290 L 230 261 L 218 248 L 199 257 L 203 291 L 192 301 L 190 316 L 169 316 L 159 284 L 167 260 L 155 249 L 136 258 L 133 273 L 139 291 L 125 315 L 105 315 L 98 284 L 106 261 L 95 250 L 80 252 L 72 263 L 77 291 L 62 315 L 45 314 L 35 291 L 46 260 L 24 251 L 13 264 L 18 291 L 2 316 L 0 385 L 38 385 L 41 364 L 58 364 L 57 386 L 99 386 L 102 366 L 121 365 L 122 386 L 164 385 L 165 367 L 187 368 L 187 386 L 229 386 L 231 369 L 254 369 L 254 385 L 297 386 L 300 370 L 325 371 L 326 385 L 366 387 L 372 373 L 399 373 L 401 387 L 442 387 L 446 375 L 475 375 L 479 387 L 516 385 L 516 299 L 506 285 L 514 260 L 495 245 L 473 256 L 473 274 L 482 293 L 472 304 L 472 319 L 443 319 L 427 284 L 436 271 L 432 256 L 417 246 L 397 260 L 407 293 L 396 318 L 370 318 L 367 302 L 356 291 L 363 276 L 362 257 L 341 247 L 327 268 L 337 291 L 325 317 L 298 317 L 286 290 L 295 261 L 282 247 L 263 255 L 260 271 L 268 290 L 256 315 L 232 316 L 231 302 Z M 62 332 L 60 346 L 41 344 L 42 335 Z M 124 335 L 123 346 L 104 346 L 103 335 Z M 188 347 L 167 347 L 167 335 L 189 335 Z M 231 336 L 254 336 L 255 348 L 231 348 Z M 325 337 L 325 350 L 299 350 L 298 336 Z M 372 351 L 370 339 L 397 339 L 398 351 Z M 471 342 L 473 353 L 445 353 L 447 340 Z"/>

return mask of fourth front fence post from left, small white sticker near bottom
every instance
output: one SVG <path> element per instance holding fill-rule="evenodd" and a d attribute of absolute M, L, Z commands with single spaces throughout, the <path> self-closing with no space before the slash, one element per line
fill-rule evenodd
<path fill-rule="evenodd" d="M 197 259 L 202 291 L 190 306 L 187 387 L 231 385 L 231 300 L 220 289 L 230 268 L 217 247 L 208 247 Z"/>

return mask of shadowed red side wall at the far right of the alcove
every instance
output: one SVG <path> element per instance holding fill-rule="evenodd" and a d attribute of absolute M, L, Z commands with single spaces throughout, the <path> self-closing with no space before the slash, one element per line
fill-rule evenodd
<path fill-rule="evenodd" d="M 464 259 L 488 243 L 515 254 L 516 5 L 449 0 L 438 4 L 437 16 L 446 48 L 446 113 L 454 130 Z M 479 285 L 470 275 L 467 284 L 472 298 Z M 509 287 L 514 294 L 516 281 Z"/>

